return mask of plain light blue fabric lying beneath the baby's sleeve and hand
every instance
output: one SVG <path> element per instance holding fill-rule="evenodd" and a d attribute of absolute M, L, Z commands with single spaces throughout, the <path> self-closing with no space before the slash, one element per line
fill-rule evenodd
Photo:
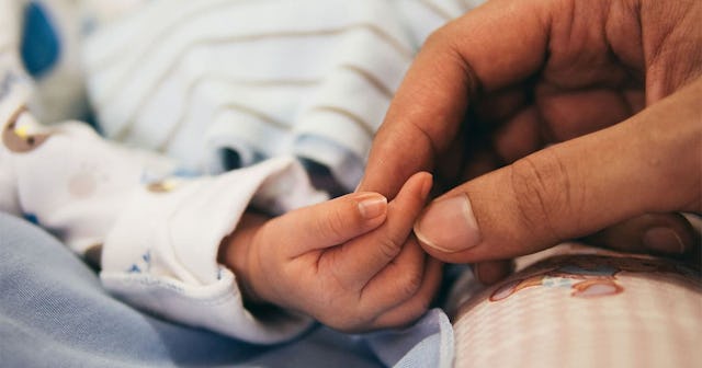
<path fill-rule="evenodd" d="M 55 238 L 0 214 L 0 360 L 7 367 L 449 367 L 441 310 L 414 326 L 365 335 L 317 326 L 257 346 L 170 323 L 110 297 Z"/>

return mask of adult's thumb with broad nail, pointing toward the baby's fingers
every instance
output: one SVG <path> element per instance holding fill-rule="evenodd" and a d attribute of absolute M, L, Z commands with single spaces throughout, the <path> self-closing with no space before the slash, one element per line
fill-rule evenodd
<path fill-rule="evenodd" d="M 644 214 L 700 211 L 702 83 L 432 202 L 415 233 L 445 262 L 533 253 Z M 695 153 L 697 152 L 697 153 Z"/>

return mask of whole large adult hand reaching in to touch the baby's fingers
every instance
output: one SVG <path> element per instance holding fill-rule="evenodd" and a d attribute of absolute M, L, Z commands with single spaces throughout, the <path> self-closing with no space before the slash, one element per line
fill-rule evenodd
<path fill-rule="evenodd" d="M 429 37 L 359 188 L 392 197 L 420 170 L 463 183 L 415 231 L 440 260 L 484 262 L 486 283 L 496 260 L 590 234 L 689 252 L 677 212 L 702 211 L 700 19 L 694 0 L 489 1 Z"/>

